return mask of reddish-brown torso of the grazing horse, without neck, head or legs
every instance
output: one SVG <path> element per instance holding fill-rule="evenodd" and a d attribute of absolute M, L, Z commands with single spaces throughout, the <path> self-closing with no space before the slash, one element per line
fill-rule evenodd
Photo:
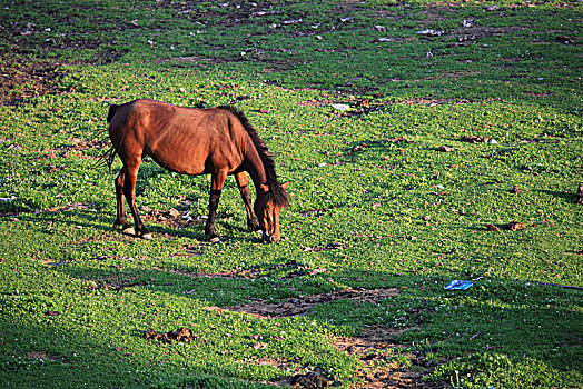
<path fill-rule="evenodd" d="M 150 156 L 161 167 L 188 174 L 236 170 L 246 142 L 245 129 L 226 110 L 147 99 L 115 107 L 109 133 L 122 160 Z"/>

